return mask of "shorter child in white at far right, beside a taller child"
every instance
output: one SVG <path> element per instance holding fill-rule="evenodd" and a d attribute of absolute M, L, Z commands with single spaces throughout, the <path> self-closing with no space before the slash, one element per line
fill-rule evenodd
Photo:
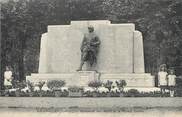
<path fill-rule="evenodd" d="M 174 97 L 175 85 L 176 85 L 176 75 L 174 73 L 174 70 L 170 69 L 168 75 L 168 86 L 169 86 L 170 97 Z"/>

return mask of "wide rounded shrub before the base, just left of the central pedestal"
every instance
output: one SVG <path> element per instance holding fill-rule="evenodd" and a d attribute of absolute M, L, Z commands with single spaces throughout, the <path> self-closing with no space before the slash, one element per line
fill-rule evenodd
<path fill-rule="evenodd" d="M 65 81 L 63 80 L 51 80 L 47 82 L 47 87 L 51 90 L 57 90 L 65 86 Z"/>

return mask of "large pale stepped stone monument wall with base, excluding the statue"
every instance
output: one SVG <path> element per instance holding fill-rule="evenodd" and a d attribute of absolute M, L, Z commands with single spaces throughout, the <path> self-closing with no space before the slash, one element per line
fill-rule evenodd
<path fill-rule="evenodd" d="M 80 46 L 88 26 L 100 40 L 97 64 L 80 65 Z M 89 68 L 89 69 L 88 69 Z M 97 72 L 96 72 L 96 71 Z M 42 34 L 38 73 L 27 80 L 65 80 L 67 85 L 86 86 L 89 81 L 126 80 L 128 87 L 153 87 L 154 77 L 145 73 L 143 38 L 132 23 L 112 24 L 108 20 L 71 21 L 70 25 L 49 25 Z"/>

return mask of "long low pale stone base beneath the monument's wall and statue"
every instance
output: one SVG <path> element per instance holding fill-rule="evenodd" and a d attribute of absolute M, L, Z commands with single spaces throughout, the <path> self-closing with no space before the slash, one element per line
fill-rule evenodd
<path fill-rule="evenodd" d="M 66 86 L 88 86 L 90 81 L 100 80 L 101 82 L 125 80 L 127 87 L 154 87 L 154 77 L 148 73 L 143 74 L 107 74 L 97 73 L 95 71 L 79 71 L 75 73 L 60 73 L 60 74 L 36 74 L 26 77 L 31 82 L 49 81 L 49 80 L 64 80 Z"/>

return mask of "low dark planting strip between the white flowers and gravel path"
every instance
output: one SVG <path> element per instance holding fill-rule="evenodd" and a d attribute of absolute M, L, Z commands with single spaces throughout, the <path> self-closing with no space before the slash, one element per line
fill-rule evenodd
<path fill-rule="evenodd" d="M 119 92 L 96 92 L 96 91 L 33 91 L 33 92 L 3 92 L 1 96 L 12 96 L 12 97 L 161 97 L 160 91 L 154 92 L 138 92 L 136 89 L 132 89 L 127 92 L 120 94 Z M 164 97 L 169 97 L 169 92 L 164 94 Z"/>

